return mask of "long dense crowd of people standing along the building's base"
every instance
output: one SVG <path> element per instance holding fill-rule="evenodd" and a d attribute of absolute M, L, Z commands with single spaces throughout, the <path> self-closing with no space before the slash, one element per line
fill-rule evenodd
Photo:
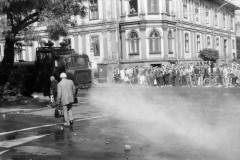
<path fill-rule="evenodd" d="M 240 65 L 236 62 L 211 64 L 210 62 L 167 64 L 159 66 L 117 67 L 113 82 L 147 84 L 149 86 L 202 86 L 206 78 L 215 78 L 224 87 L 240 86 Z"/>

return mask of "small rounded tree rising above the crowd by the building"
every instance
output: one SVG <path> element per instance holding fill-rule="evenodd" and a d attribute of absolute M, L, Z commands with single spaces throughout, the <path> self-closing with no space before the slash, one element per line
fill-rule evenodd
<path fill-rule="evenodd" d="M 200 51 L 199 58 L 203 59 L 204 61 L 215 62 L 217 59 L 219 59 L 219 52 L 218 50 L 205 48 Z"/>

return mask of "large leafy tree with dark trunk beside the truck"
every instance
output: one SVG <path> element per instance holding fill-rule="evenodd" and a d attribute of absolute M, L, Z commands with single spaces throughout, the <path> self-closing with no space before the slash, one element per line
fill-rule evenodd
<path fill-rule="evenodd" d="M 14 63 L 14 44 L 34 40 L 34 23 L 42 23 L 53 40 L 66 36 L 76 23 L 72 16 L 86 16 L 84 0 L 1 0 L 0 31 L 5 39 L 2 67 L 9 69 Z M 1 36 L 1 33 L 0 33 Z M 36 39 L 36 38 L 35 38 Z"/>

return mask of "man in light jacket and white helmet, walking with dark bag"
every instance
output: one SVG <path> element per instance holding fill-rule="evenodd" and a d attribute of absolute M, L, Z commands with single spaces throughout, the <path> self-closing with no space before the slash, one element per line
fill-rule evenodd
<path fill-rule="evenodd" d="M 75 86 L 72 80 L 67 79 L 66 73 L 61 73 L 60 78 L 62 80 L 58 83 L 57 104 L 61 103 L 63 106 L 64 126 L 70 126 L 73 124 L 72 103 L 74 102 Z"/>

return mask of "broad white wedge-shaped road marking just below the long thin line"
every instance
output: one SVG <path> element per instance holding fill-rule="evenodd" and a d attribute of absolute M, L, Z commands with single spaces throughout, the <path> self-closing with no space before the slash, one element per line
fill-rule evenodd
<path fill-rule="evenodd" d="M 8 141 L 0 141 L 0 146 L 4 147 L 4 148 L 11 148 L 14 146 L 21 145 L 23 143 L 27 143 L 27 142 L 45 137 L 47 135 L 49 135 L 49 134 L 45 134 L 45 135 L 41 135 L 41 136 L 31 136 L 31 137 L 27 137 L 27 138 L 19 138 L 19 139 L 8 140 Z"/>

